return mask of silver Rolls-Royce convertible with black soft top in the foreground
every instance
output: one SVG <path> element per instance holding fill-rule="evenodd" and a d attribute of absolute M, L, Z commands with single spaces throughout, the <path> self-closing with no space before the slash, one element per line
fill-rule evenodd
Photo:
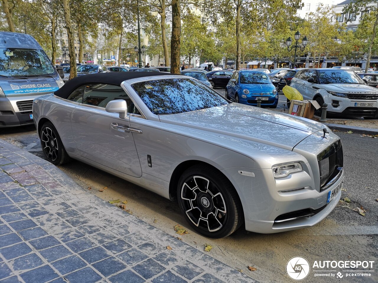
<path fill-rule="evenodd" d="M 36 98 L 33 115 L 48 161 L 80 160 L 176 200 L 206 237 L 308 228 L 341 197 L 341 141 L 326 126 L 229 103 L 189 76 L 77 77 Z"/>

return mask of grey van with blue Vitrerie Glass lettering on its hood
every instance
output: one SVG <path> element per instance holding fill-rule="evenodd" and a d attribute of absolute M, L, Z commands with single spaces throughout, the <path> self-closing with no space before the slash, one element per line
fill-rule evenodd
<path fill-rule="evenodd" d="M 0 32 L 0 128 L 33 124 L 34 98 L 63 84 L 31 35 Z"/>

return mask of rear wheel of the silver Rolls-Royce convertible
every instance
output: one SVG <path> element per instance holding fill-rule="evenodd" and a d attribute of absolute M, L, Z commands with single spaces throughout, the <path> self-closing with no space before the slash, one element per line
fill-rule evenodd
<path fill-rule="evenodd" d="M 70 160 L 62 140 L 54 125 L 50 122 L 43 124 L 40 130 L 40 140 L 43 154 L 54 165 L 62 165 Z"/>

